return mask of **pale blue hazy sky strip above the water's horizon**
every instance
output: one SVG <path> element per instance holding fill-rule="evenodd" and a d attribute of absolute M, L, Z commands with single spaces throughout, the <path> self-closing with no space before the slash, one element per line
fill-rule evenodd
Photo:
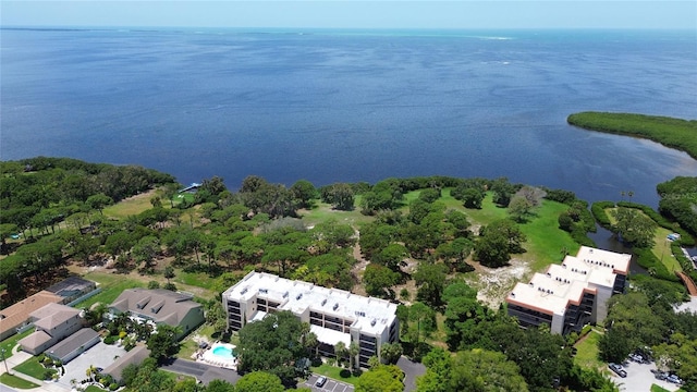
<path fill-rule="evenodd" d="M 290 28 L 646 28 L 697 32 L 697 1 L 2 0 L 0 25 Z"/>

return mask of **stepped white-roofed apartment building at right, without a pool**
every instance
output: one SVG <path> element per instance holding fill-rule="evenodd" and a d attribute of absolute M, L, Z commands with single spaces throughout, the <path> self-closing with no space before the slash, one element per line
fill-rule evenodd
<path fill-rule="evenodd" d="M 517 283 L 506 297 L 509 315 L 522 327 L 545 322 L 553 333 L 580 331 L 608 316 L 608 299 L 624 293 L 632 255 L 582 246 L 576 256 Z"/>

